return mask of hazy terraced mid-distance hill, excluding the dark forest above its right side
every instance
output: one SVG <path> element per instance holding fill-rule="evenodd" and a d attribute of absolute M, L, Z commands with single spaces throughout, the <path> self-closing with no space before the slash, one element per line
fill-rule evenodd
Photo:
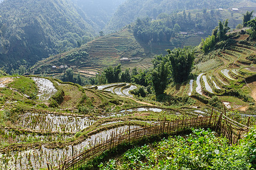
<path fill-rule="evenodd" d="M 201 37 L 196 36 L 196 39 Z M 186 42 L 186 45 L 194 45 L 194 41 Z M 198 44 L 196 44 L 198 45 Z M 159 42 L 145 44 L 136 40 L 132 29 L 124 28 L 122 31 L 108 36 L 99 37 L 81 48 L 52 56 L 43 61 L 37 62 L 31 70 L 33 74 L 41 74 L 46 71 L 48 74 L 59 75 L 64 72 L 60 66 L 72 67 L 75 73 L 83 76 L 95 76 L 108 66 L 116 66 L 121 58 L 131 58 L 129 62 L 121 62 L 122 69 L 137 67 L 137 69 L 148 69 L 152 66 L 151 60 L 155 55 L 165 55 L 166 49 L 181 47 L 171 42 Z M 52 67 L 56 66 L 56 67 Z"/>

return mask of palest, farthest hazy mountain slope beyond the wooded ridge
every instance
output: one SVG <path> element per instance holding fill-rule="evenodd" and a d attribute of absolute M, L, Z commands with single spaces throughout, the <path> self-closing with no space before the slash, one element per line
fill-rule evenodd
<path fill-rule="evenodd" d="M 203 10 L 216 8 L 237 7 L 239 1 L 177 1 L 177 0 L 128 0 L 123 5 L 120 5 L 111 21 L 106 26 L 106 29 L 115 31 L 125 25 L 135 21 L 137 18 L 149 16 L 156 19 L 159 14 L 170 14 L 179 10 Z M 246 1 L 252 3 L 251 1 Z M 255 7 L 255 3 L 253 3 Z M 245 11 L 246 12 L 246 11 Z"/>

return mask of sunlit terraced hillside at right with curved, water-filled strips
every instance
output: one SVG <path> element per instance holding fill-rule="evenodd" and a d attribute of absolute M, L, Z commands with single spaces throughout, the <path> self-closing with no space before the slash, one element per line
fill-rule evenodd
<path fill-rule="evenodd" d="M 195 79 L 173 86 L 167 93 L 189 95 L 203 102 L 204 97 L 210 99 L 216 95 L 226 107 L 245 111 L 254 103 L 248 96 L 255 95 L 256 46 L 249 35 L 234 37 L 228 48 L 209 53 L 208 56 L 213 56 L 211 59 L 195 66 L 192 71 L 198 75 Z"/>

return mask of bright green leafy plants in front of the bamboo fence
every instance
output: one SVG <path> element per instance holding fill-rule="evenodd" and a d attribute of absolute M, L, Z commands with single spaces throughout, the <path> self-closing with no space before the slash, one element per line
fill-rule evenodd
<path fill-rule="evenodd" d="M 210 129 L 193 129 L 186 136 L 169 137 L 152 147 L 135 147 L 111 160 L 114 169 L 253 169 L 256 160 L 256 131 L 251 130 L 240 145 L 228 144 Z M 104 166 L 101 164 L 101 169 Z"/>

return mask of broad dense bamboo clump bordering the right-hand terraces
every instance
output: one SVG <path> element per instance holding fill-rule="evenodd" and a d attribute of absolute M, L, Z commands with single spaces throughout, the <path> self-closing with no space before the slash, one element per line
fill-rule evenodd
<path fill-rule="evenodd" d="M 175 83 L 182 83 L 188 79 L 194 63 L 194 50 L 190 47 L 167 50 L 171 65 L 171 77 Z"/>

